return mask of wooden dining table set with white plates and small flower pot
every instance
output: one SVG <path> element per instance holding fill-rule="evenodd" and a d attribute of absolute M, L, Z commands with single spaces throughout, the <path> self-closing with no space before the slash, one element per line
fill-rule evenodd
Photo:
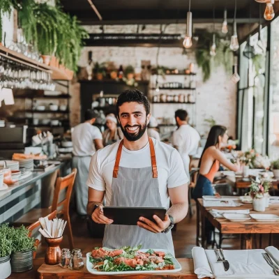
<path fill-rule="evenodd" d="M 255 234 L 278 234 L 279 223 L 278 222 L 259 222 L 254 219 L 250 219 L 244 222 L 231 222 L 225 218 L 214 218 L 211 214 L 211 209 L 218 210 L 239 210 L 250 209 L 250 213 L 261 214 L 276 214 L 279 216 L 279 204 L 269 204 L 264 212 L 257 212 L 252 210 L 252 204 L 245 204 L 242 206 L 229 207 L 229 206 L 209 206 L 203 205 L 202 199 L 197 199 L 197 246 L 199 245 L 199 222 L 202 223 L 202 247 L 205 243 L 205 226 L 204 220 L 207 218 L 210 223 L 216 227 L 220 232 L 220 239 L 223 234 L 242 234 L 244 236 L 244 248 L 252 249 L 252 236 Z M 272 239 L 272 238 L 271 238 Z M 271 243 L 270 243 L 271 244 Z M 220 241 L 219 241 L 220 246 Z"/>

